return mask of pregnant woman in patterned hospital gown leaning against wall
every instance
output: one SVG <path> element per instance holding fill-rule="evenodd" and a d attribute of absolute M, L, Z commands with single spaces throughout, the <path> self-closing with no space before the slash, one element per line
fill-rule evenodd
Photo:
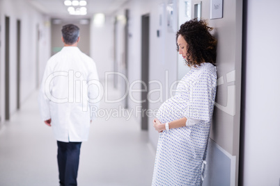
<path fill-rule="evenodd" d="M 191 69 L 153 120 L 160 137 L 152 185 L 202 185 L 217 81 L 217 40 L 210 31 L 205 20 L 192 19 L 176 34 Z"/>

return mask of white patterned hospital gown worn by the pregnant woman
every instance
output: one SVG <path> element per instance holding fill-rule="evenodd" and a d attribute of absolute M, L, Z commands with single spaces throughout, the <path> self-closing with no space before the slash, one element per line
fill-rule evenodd
<path fill-rule="evenodd" d="M 217 71 L 205 62 L 182 78 L 176 95 L 157 112 L 161 123 L 182 117 L 199 119 L 192 126 L 160 133 L 152 185 L 202 185 L 203 160 L 208 143 L 216 95 Z"/>

